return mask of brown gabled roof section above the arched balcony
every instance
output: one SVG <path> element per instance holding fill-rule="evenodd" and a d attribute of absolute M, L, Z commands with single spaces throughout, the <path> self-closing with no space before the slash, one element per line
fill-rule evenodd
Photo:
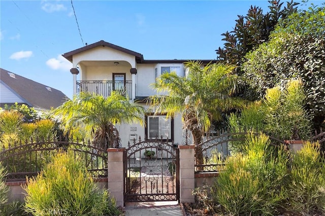
<path fill-rule="evenodd" d="M 140 62 L 143 61 L 143 55 L 141 53 L 137 53 L 135 51 L 128 50 L 128 49 L 125 49 L 123 47 L 119 47 L 117 45 L 114 45 L 114 44 L 105 42 L 103 40 L 102 41 L 99 41 L 99 42 L 96 42 L 96 43 L 93 43 L 93 44 L 90 44 L 90 45 L 86 45 L 84 47 L 81 47 L 79 49 L 76 49 L 76 50 L 73 50 L 73 51 L 70 51 L 70 52 L 67 52 L 67 53 L 64 53 L 62 56 L 64 58 L 68 59 L 70 62 L 72 62 L 72 56 L 73 55 L 78 54 L 78 53 L 81 53 L 81 52 L 84 52 L 84 51 L 87 51 L 87 50 L 92 49 L 92 48 L 95 48 L 95 47 L 99 47 L 99 46 L 110 47 L 112 49 L 119 50 L 121 52 L 130 54 L 130 55 L 134 55 L 136 57 L 136 61 L 138 63 L 140 63 Z"/>

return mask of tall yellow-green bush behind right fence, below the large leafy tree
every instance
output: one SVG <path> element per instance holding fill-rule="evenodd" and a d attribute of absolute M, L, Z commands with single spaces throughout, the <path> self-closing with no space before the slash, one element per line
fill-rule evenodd
<path fill-rule="evenodd" d="M 228 120 L 232 132 L 243 129 L 264 133 L 282 139 L 307 139 L 311 120 L 304 109 L 305 93 L 300 79 L 290 80 L 285 89 L 276 86 L 266 90 L 261 101 L 255 101 L 240 114 L 231 114 Z M 243 152 L 244 143 L 232 142 L 233 151 Z"/>

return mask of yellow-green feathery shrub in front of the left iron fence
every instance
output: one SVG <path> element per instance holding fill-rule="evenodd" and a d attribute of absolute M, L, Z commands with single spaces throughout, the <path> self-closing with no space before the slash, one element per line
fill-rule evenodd
<path fill-rule="evenodd" d="M 26 211 L 34 215 L 118 215 L 115 201 L 100 190 L 73 153 L 59 153 L 37 177 L 27 179 Z"/>

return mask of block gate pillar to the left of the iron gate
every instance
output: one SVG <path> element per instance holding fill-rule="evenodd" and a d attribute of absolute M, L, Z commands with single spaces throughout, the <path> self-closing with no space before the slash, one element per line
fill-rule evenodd
<path fill-rule="evenodd" d="M 124 165 L 125 148 L 107 150 L 107 187 L 117 206 L 124 206 Z"/>

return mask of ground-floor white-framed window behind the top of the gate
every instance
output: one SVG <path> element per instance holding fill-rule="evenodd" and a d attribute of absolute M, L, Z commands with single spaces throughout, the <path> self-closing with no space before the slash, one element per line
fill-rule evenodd
<path fill-rule="evenodd" d="M 172 139 L 172 118 L 166 115 L 146 116 L 146 136 L 147 139 Z"/>

